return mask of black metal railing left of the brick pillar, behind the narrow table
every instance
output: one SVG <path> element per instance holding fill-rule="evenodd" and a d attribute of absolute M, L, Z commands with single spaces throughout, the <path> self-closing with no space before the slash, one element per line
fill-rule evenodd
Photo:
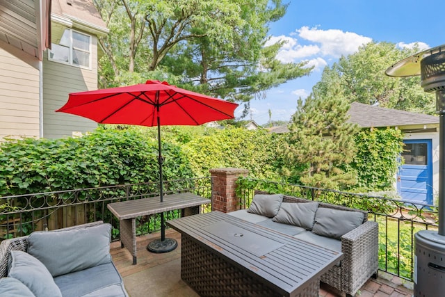
<path fill-rule="evenodd" d="M 165 194 L 193 192 L 211 199 L 211 177 L 175 179 L 163 182 Z M 113 239 L 119 239 L 118 220 L 106 204 L 140 198 L 159 197 L 159 182 L 79 188 L 67 191 L 32 193 L 0 198 L 0 240 L 28 235 L 35 230 L 56 230 L 95 220 L 113 225 Z M 210 211 L 209 205 L 201 211 Z M 179 218 L 180 210 L 168 211 L 166 219 Z M 137 233 L 161 230 L 158 215 L 137 219 Z"/>

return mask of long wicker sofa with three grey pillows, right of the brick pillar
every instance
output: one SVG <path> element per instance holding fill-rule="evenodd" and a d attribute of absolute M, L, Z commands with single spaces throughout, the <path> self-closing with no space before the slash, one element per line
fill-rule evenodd
<path fill-rule="evenodd" d="M 369 221 L 366 211 L 255 191 L 249 209 L 229 214 L 343 252 L 341 262 L 322 275 L 321 281 L 346 296 L 355 296 L 369 278 L 378 275 L 378 223 Z"/>

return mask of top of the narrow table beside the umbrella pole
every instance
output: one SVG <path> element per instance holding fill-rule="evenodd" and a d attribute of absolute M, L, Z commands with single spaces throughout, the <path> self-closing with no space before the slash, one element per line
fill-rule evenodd
<path fill-rule="evenodd" d="M 177 193 L 163 196 L 163 202 L 159 196 L 143 198 L 137 200 L 127 200 L 107 204 L 106 207 L 118 218 L 125 220 L 136 218 L 137 216 L 147 216 L 149 214 L 159 214 L 164 211 L 174 209 L 184 209 L 195 207 L 201 204 L 210 203 L 210 199 L 203 198 L 194 193 Z"/>

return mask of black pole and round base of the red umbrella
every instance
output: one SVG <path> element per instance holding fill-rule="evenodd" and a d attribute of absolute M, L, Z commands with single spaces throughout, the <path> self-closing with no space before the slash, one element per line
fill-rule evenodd
<path fill-rule="evenodd" d="M 157 100 L 159 96 L 159 92 L 156 92 L 156 102 L 159 102 Z M 161 121 L 159 119 L 159 105 L 157 106 L 157 113 L 158 113 L 158 150 L 159 150 L 159 156 L 158 156 L 158 163 L 159 163 L 159 195 L 161 202 L 163 202 L 163 179 L 162 179 L 162 147 L 161 147 Z M 149 252 L 156 252 L 158 254 L 163 252 L 171 252 L 172 250 L 175 250 L 175 248 L 178 246 L 177 241 L 175 239 L 166 239 L 165 238 L 165 222 L 164 222 L 164 213 L 161 212 L 161 239 L 155 239 L 154 241 L 148 243 L 147 250 Z"/>

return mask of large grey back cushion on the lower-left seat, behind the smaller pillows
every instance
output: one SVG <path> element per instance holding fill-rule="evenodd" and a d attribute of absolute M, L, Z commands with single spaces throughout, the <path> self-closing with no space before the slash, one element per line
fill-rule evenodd
<path fill-rule="evenodd" d="M 110 224 L 33 232 L 28 252 L 56 277 L 111 262 L 110 240 Z"/>

